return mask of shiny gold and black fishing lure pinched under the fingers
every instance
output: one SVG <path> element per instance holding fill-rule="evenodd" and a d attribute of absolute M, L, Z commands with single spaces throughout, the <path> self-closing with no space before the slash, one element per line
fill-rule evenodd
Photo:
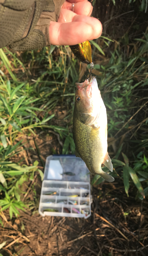
<path fill-rule="evenodd" d="M 90 42 L 84 41 L 78 45 L 70 46 L 71 51 L 75 56 L 83 63 L 89 64 L 92 62 L 91 59 L 91 45 Z"/>

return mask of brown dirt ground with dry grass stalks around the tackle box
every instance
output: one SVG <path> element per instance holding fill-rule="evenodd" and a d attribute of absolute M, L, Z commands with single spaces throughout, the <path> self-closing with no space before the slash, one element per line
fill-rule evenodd
<path fill-rule="evenodd" d="M 44 161 L 53 149 L 60 151 L 61 145 L 56 134 L 41 136 L 35 140 Z M 33 137 L 24 137 L 24 141 L 26 147 L 32 147 L 26 153 L 29 164 L 38 160 L 43 170 Z M 116 178 L 113 183 L 92 187 L 91 217 L 86 220 L 43 218 L 38 214 L 41 180 L 35 175 L 28 184 L 29 190 L 26 188 L 25 200 L 30 210 L 21 211 L 18 219 L 10 220 L 9 211 L 2 215 L 1 243 L 7 241 L 7 244 L 0 252 L 3 256 L 147 256 L 148 203 L 145 200 L 139 203 L 132 196 L 128 198 L 120 183 Z"/>

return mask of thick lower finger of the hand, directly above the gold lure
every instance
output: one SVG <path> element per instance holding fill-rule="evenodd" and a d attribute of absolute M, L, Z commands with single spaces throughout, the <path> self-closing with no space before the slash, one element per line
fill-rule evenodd
<path fill-rule="evenodd" d="M 102 24 L 98 19 L 85 16 L 84 21 L 83 16 L 79 18 L 76 16 L 73 17 L 76 21 L 71 23 L 51 22 L 49 34 L 52 45 L 77 45 L 101 36 Z"/>

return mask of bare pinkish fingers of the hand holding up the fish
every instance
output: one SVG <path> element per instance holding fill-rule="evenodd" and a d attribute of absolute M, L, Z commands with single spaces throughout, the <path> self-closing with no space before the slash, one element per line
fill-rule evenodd
<path fill-rule="evenodd" d="M 71 5 L 74 9 L 71 11 Z M 49 28 L 52 45 L 77 45 L 86 40 L 98 38 L 102 34 L 101 22 L 93 17 L 92 5 L 87 0 L 68 0 L 61 7 L 58 22 Z"/>

